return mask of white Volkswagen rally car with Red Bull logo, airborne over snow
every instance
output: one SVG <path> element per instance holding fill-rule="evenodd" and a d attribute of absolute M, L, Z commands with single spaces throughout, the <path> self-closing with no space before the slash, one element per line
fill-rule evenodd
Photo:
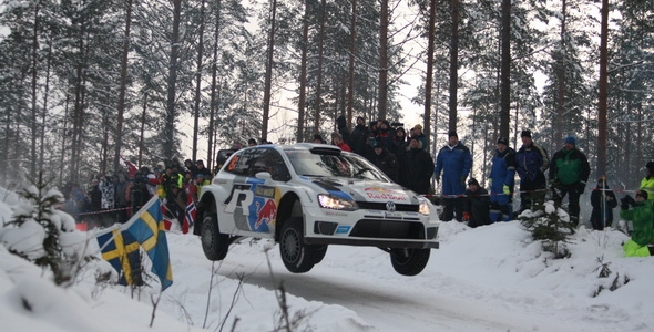
<path fill-rule="evenodd" d="M 439 221 L 428 199 L 361 156 L 324 144 L 234 152 L 202 187 L 197 216 L 194 234 L 210 260 L 224 259 L 243 237 L 269 238 L 296 273 L 320 262 L 328 245 L 348 245 L 378 247 L 398 273 L 415 276 L 438 248 Z"/>

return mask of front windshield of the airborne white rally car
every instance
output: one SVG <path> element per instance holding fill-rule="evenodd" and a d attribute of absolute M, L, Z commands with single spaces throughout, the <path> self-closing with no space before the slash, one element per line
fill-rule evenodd
<path fill-rule="evenodd" d="M 311 153 L 286 151 L 290 165 L 299 176 L 326 176 L 369 179 L 389 183 L 390 179 L 375 165 L 356 154 Z"/>

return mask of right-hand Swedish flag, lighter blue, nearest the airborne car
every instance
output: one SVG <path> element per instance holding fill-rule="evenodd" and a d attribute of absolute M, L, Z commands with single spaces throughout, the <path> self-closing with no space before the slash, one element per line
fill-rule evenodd
<path fill-rule="evenodd" d="M 152 272 L 159 277 L 162 290 L 165 290 L 173 283 L 173 271 L 159 197 L 150 199 L 122 228 L 141 243 L 152 261 Z"/>

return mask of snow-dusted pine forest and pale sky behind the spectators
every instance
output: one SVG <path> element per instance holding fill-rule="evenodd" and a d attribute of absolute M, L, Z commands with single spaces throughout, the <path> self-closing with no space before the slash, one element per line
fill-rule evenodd
<path fill-rule="evenodd" d="M 432 156 L 457 129 L 478 177 L 522 128 L 550 155 L 576 136 L 612 185 L 654 158 L 650 0 L 10 0 L 0 27 L 6 186 L 83 185 L 123 158 L 214 165 L 339 115 L 402 123 L 407 100 Z"/>

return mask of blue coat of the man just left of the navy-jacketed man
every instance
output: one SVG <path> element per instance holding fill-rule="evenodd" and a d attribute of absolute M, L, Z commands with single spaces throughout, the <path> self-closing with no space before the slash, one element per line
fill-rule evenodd
<path fill-rule="evenodd" d="M 495 149 L 489 178 L 491 179 L 490 200 L 499 205 L 511 201 L 515 185 L 515 151 L 510 147 L 507 147 L 503 153 Z M 504 186 L 509 186 L 510 195 L 504 195 Z"/>

